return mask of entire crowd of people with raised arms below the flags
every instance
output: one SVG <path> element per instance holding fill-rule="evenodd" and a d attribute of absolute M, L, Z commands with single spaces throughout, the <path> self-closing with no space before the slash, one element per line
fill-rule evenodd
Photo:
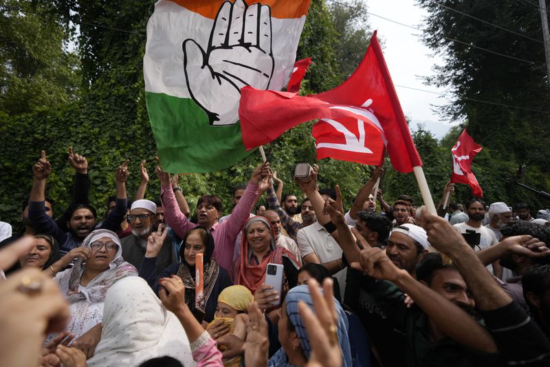
<path fill-rule="evenodd" d="M 41 151 L 21 231 L 0 223 L 1 366 L 550 366 L 549 209 L 447 203 L 448 183 L 436 215 L 386 201 L 381 167 L 346 208 L 318 166 L 283 195 L 263 162 L 232 210 L 191 210 L 161 163 L 151 200 L 146 162 L 132 200 L 120 165 L 98 218 L 69 148 L 54 218 Z"/>

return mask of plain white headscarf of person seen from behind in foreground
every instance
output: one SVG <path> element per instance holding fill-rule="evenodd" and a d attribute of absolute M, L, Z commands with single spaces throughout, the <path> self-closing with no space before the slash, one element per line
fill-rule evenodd
<path fill-rule="evenodd" d="M 103 331 L 87 366 L 139 366 L 168 355 L 195 366 L 189 340 L 141 277 L 125 277 L 111 286 L 103 308 Z"/>

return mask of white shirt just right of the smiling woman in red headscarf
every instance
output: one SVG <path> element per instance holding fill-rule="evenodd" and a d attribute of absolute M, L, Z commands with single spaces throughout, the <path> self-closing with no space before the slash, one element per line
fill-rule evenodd
<path fill-rule="evenodd" d="M 338 242 L 334 240 L 329 231 L 325 227 L 322 227 L 319 222 L 300 229 L 296 234 L 296 243 L 298 244 L 302 258 L 309 253 L 315 253 L 321 263 L 342 258 L 342 249 L 340 249 Z M 342 269 L 334 274 L 340 285 L 342 300 L 344 299 L 344 291 L 346 290 L 346 276 L 346 269 Z"/>

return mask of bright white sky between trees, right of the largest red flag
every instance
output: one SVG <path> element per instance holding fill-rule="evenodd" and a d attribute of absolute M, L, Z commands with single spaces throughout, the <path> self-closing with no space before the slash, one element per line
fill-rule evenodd
<path fill-rule="evenodd" d="M 425 10 L 417 5 L 415 0 L 363 1 L 365 1 L 369 13 L 411 25 L 415 28 L 422 28 L 423 18 L 427 14 Z M 433 129 L 434 134 L 441 138 L 441 132 L 435 130 L 444 129 L 442 124 L 447 127 L 451 125 L 434 111 L 432 105 L 444 105 L 447 103 L 448 98 L 406 89 L 399 87 L 399 85 L 445 93 L 445 90 L 432 85 L 425 85 L 421 80 L 421 76 L 432 75 L 432 66 L 436 63 L 442 64 L 442 59 L 439 56 L 434 56 L 434 52 L 423 45 L 419 37 L 421 32 L 386 21 L 380 17 L 369 14 L 369 25 L 372 30 L 378 30 L 378 38 L 383 42 L 386 64 L 390 70 L 405 115 L 415 123 L 426 123 L 426 128 Z"/>

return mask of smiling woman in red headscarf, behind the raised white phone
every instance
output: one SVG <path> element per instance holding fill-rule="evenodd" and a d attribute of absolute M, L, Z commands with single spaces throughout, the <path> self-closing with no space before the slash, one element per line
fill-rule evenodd
<path fill-rule="evenodd" d="M 233 264 L 232 279 L 235 284 L 243 285 L 254 293 L 265 282 L 269 263 L 284 266 L 283 295 L 287 289 L 296 286 L 298 261 L 294 255 L 283 247 L 276 247 L 273 228 L 267 218 L 250 218 L 243 227 L 241 252 Z"/>

